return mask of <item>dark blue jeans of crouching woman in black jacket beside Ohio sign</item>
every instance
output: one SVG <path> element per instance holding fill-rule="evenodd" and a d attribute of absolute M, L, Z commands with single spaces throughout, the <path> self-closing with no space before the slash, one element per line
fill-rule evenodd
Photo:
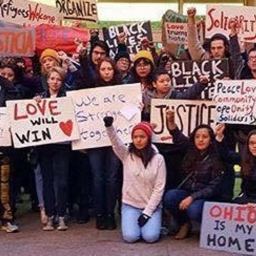
<path fill-rule="evenodd" d="M 164 206 L 171 210 L 171 214 L 180 224 L 186 223 L 190 220 L 201 222 L 202 211 L 205 200 L 193 201 L 187 210 L 180 210 L 180 202 L 191 195 L 190 191 L 184 189 L 171 189 L 166 192 L 164 197 Z"/>

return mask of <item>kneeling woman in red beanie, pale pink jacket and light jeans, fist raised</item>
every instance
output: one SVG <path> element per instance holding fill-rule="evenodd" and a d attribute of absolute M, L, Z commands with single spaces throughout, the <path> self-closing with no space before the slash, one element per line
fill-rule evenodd
<path fill-rule="evenodd" d="M 112 126 L 113 117 L 104 117 L 113 150 L 124 166 L 121 230 L 124 241 L 134 243 L 142 238 L 148 243 L 159 239 L 161 200 L 165 188 L 165 161 L 151 144 L 150 124 L 142 122 L 132 130 L 128 148 Z"/>

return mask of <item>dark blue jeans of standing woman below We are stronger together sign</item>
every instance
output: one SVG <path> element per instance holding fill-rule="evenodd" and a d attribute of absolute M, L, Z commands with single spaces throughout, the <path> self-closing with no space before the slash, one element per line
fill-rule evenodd
<path fill-rule="evenodd" d="M 117 201 L 119 159 L 111 147 L 88 152 L 93 177 L 93 194 L 97 214 L 113 214 Z"/>

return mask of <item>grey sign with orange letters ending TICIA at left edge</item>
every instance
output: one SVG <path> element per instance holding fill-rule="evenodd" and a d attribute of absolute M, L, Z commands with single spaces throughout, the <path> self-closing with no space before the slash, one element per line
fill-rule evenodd
<path fill-rule="evenodd" d="M 1 56 L 34 56 L 35 30 L 33 28 L 0 28 Z"/>

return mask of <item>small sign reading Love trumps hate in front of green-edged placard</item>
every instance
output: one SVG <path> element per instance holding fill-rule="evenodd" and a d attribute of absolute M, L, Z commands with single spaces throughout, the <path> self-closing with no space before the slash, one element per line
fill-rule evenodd
<path fill-rule="evenodd" d="M 184 44 L 187 42 L 187 23 L 165 22 L 167 43 Z"/>

